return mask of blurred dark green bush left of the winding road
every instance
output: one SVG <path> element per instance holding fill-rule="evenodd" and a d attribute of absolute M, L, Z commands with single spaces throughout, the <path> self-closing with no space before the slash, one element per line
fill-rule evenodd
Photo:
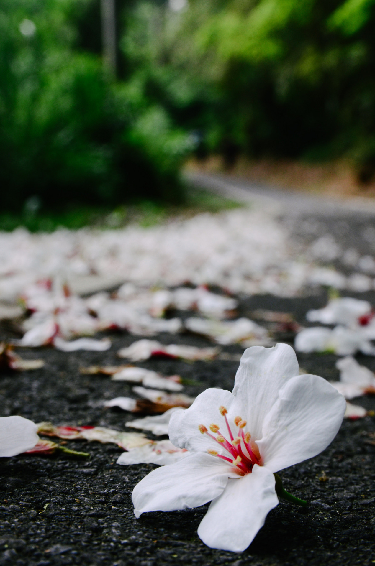
<path fill-rule="evenodd" d="M 0 12 L 2 209 L 178 200 L 191 147 L 160 104 L 105 79 L 78 49 L 87 0 L 3 0 Z"/>

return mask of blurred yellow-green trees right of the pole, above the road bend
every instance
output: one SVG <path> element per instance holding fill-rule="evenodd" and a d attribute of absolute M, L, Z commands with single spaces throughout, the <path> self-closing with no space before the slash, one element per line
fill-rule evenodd
<path fill-rule="evenodd" d="M 137 2 L 132 80 L 198 155 L 352 158 L 375 170 L 375 0 Z"/>

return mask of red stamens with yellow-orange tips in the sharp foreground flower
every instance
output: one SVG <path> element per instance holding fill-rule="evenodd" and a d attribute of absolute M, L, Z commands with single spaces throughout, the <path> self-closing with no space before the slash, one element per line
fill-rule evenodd
<path fill-rule="evenodd" d="M 237 474 L 245 475 L 250 474 L 253 470 L 254 464 L 261 465 L 261 455 L 259 454 L 259 449 L 257 444 L 252 441 L 250 432 L 245 432 L 246 421 L 243 421 L 241 417 L 236 417 L 234 422 L 236 428 L 238 428 L 237 436 L 233 436 L 231 427 L 229 426 L 227 419 L 227 409 L 221 406 L 219 407 L 221 417 L 225 419 L 225 425 L 228 430 L 229 439 L 225 438 L 224 434 L 220 431 L 218 424 L 210 424 L 210 431 L 216 434 L 211 434 L 208 432 L 207 427 L 204 424 L 199 424 L 199 432 L 202 434 L 207 434 L 216 443 L 220 445 L 220 448 L 224 449 L 226 454 L 219 454 L 216 450 L 207 450 L 208 454 L 212 456 L 217 456 L 222 460 L 230 462 L 233 464 L 234 469 Z"/>

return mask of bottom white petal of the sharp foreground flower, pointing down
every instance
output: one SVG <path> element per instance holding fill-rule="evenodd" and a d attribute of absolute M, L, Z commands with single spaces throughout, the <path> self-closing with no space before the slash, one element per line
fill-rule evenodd
<path fill-rule="evenodd" d="M 251 474 L 228 480 L 203 517 L 198 535 L 211 548 L 242 552 L 278 503 L 274 474 L 255 464 Z"/>

